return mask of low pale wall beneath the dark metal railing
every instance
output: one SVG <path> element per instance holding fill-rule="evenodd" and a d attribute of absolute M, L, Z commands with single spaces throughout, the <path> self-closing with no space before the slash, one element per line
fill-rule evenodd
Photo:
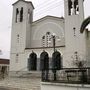
<path fill-rule="evenodd" d="M 41 90 L 90 90 L 90 85 L 41 82 Z"/>

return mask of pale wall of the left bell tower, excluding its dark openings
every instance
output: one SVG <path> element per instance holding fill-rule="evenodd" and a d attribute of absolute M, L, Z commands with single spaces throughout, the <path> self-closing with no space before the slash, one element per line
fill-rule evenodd
<path fill-rule="evenodd" d="M 23 7 L 23 21 L 20 22 L 20 10 Z M 16 9 L 19 10 L 19 17 L 16 20 Z M 17 71 L 27 67 L 25 48 L 30 48 L 30 24 L 28 19 L 28 10 L 33 12 L 31 3 L 18 1 L 13 5 L 12 33 L 11 33 L 11 53 L 10 53 L 10 71 Z M 19 37 L 17 37 L 19 35 Z M 19 38 L 19 39 L 18 39 Z M 18 58 L 17 55 L 18 54 Z M 16 60 L 17 59 L 17 60 Z"/>

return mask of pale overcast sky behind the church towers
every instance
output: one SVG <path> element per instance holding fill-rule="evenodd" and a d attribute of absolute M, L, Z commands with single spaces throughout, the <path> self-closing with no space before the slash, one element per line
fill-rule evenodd
<path fill-rule="evenodd" d="M 10 58 L 12 4 L 17 0 L 0 0 L 0 58 Z M 63 0 L 27 0 L 34 4 L 34 21 L 46 15 L 64 16 Z M 85 18 L 90 16 L 90 0 L 84 1 Z"/>

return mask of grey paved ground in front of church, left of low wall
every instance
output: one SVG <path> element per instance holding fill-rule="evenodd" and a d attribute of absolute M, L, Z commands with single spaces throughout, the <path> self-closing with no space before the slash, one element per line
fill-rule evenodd
<path fill-rule="evenodd" d="M 0 80 L 0 90 L 40 90 L 40 78 L 6 78 Z"/>

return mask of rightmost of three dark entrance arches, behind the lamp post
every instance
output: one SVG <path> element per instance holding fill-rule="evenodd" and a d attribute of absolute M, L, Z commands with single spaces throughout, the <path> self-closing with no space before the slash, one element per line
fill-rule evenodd
<path fill-rule="evenodd" d="M 59 51 L 55 51 L 52 54 L 52 69 L 60 70 L 62 68 L 62 61 L 61 61 L 61 53 Z"/>

